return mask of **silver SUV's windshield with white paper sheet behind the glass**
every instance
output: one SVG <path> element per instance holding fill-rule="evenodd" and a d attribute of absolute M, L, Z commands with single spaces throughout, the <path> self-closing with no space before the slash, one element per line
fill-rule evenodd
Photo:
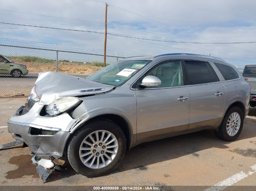
<path fill-rule="evenodd" d="M 152 60 L 121 60 L 88 76 L 86 79 L 102 84 L 120 86 Z"/>

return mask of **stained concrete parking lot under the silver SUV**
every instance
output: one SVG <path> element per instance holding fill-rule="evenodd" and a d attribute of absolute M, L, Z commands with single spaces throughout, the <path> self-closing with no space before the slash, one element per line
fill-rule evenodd
<path fill-rule="evenodd" d="M 6 121 L 26 98 L 0 99 L 0 145 L 14 141 Z M 31 163 L 28 147 L 0 150 L 0 185 L 171 185 L 256 186 L 256 108 L 251 108 L 238 140 L 225 142 L 205 130 L 144 143 L 126 152 L 113 173 L 95 178 L 77 174 L 68 162 L 63 171 L 54 171 L 46 183 Z M 232 177 L 233 176 L 233 177 Z"/>

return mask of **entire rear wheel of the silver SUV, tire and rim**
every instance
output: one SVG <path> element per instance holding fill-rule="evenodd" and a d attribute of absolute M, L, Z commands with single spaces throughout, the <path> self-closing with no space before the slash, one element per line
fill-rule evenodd
<path fill-rule="evenodd" d="M 244 115 L 239 107 L 231 107 L 225 114 L 223 121 L 219 127 L 219 131 L 215 131 L 218 138 L 225 141 L 234 141 L 240 135 L 244 124 Z"/>

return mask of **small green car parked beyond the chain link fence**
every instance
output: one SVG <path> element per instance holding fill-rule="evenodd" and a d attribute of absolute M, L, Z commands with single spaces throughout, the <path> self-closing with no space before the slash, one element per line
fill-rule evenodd
<path fill-rule="evenodd" d="M 22 75 L 27 75 L 28 70 L 24 64 L 12 62 L 0 54 L 0 74 L 9 74 L 14 78 L 19 78 Z"/>

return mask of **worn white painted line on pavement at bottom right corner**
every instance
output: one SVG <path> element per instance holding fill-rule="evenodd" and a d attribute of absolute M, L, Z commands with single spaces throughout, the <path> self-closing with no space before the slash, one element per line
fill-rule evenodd
<path fill-rule="evenodd" d="M 210 188 L 205 189 L 204 191 L 221 191 L 221 190 L 224 190 L 228 186 L 231 186 L 234 183 L 237 183 L 239 180 L 242 180 L 242 179 L 248 177 L 249 175 L 253 174 L 254 172 L 256 172 L 256 164 L 251 166 L 251 169 L 252 169 L 252 171 L 249 170 L 248 172 L 241 171 L 240 173 L 237 173 L 237 174 L 233 175 L 232 177 L 229 177 L 229 178 L 219 182 L 218 184 L 215 184 L 214 186 L 211 186 Z"/>

